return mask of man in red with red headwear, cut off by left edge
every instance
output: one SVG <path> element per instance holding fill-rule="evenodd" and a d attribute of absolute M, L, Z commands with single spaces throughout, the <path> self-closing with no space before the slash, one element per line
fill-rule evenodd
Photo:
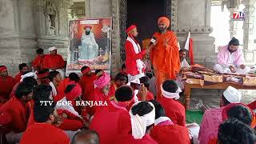
<path fill-rule="evenodd" d="M 8 76 L 6 66 L 0 66 L 0 106 L 10 99 L 10 92 L 14 85 L 14 78 Z"/>

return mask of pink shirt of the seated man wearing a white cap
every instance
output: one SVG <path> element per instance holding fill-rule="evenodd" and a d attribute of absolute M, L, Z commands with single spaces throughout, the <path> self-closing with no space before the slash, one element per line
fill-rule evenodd
<path fill-rule="evenodd" d="M 203 114 L 198 136 L 200 144 L 208 144 L 210 139 L 217 138 L 218 126 L 222 123 L 222 110 L 224 108 L 225 106 L 206 110 L 205 114 Z"/>

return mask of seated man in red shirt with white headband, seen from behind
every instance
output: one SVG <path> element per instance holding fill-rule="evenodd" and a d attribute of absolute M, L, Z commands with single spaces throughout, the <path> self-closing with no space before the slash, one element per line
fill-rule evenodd
<path fill-rule="evenodd" d="M 179 93 L 182 90 L 173 80 L 166 80 L 161 86 L 162 97 L 158 99 L 166 110 L 166 116 L 178 126 L 186 126 L 186 115 L 184 106 L 178 102 Z"/>

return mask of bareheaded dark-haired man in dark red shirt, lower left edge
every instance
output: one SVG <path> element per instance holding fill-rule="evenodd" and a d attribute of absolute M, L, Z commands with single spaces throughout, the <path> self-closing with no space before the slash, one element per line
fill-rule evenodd
<path fill-rule="evenodd" d="M 5 131 L 6 139 L 10 143 L 19 140 L 20 134 L 18 133 L 26 130 L 26 123 L 31 111 L 31 107 L 27 105 L 32 99 L 33 88 L 34 85 L 30 83 L 20 83 L 15 91 L 15 97 L 10 98 L 0 108 L 0 115 L 6 114 L 6 117 L 9 117 L 8 121 L 0 123 L 0 126 L 4 125 L 4 130 L 1 129 L 1 131 Z"/>

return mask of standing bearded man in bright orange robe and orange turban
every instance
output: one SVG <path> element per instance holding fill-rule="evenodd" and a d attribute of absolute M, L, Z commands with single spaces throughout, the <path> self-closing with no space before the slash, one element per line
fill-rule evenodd
<path fill-rule="evenodd" d="M 176 74 L 180 69 L 178 54 L 178 41 L 173 31 L 167 30 L 170 20 L 166 17 L 158 19 L 158 32 L 153 38 L 156 42 L 150 46 L 150 61 L 154 67 L 156 77 L 157 96 L 161 96 L 161 85 L 167 79 L 176 79 Z"/>

